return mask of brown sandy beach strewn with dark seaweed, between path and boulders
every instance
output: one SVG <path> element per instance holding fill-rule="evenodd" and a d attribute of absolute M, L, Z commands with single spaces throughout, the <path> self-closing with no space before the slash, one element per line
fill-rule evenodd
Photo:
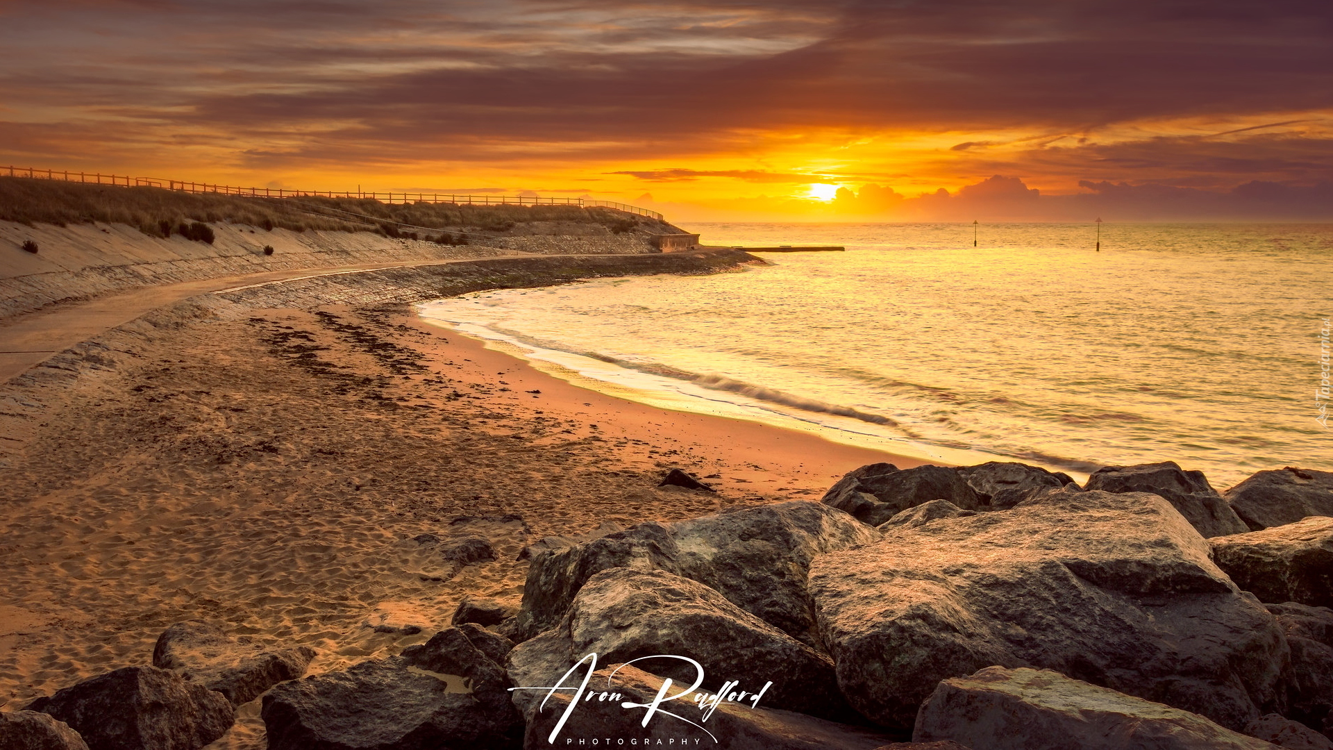
<path fill-rule="evenodd" d="M 48 395 L 0 490 L 7 707 L 147 663 L 189 618 L 340 669 L 425 641 L 464 595 L 517 605 L 519 552 L 543 536 L 916 464 L 588 391 L 407 304 L 201 319 Z M 659 487 L 672 467 L 717 492 Z M 497 559 L 445 560 L 452 536 Z M 253 702 L 215 747 L 261 737 Z"/>

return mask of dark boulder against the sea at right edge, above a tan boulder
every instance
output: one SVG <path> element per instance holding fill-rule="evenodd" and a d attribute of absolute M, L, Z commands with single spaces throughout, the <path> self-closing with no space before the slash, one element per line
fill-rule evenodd
<path fill-rule="evenodd" d="M 1222 495 L 1252 531 L 1333 515 L 1333 472 L 1310 468 L 1260 471 Z"/>

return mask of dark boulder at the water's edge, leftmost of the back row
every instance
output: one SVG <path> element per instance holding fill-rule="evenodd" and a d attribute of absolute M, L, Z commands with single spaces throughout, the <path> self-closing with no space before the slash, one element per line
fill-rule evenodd
<path fill-rule="evenodd" d="M 988 507 L 954 468 L 925 464 L 900 470 L 892 463 L 872 463 L 846 474 L 820 502 L 878 526 L 930 500 L 949 500 L 962 510 Z"/>

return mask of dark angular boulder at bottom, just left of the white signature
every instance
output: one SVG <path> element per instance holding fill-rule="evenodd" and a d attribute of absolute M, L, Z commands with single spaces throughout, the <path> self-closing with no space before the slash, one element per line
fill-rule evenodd
<path fill-rule="evenodd" d="M 269 750 L 517 749 L 509 678 L 461 629 L 264 695 Z"/>

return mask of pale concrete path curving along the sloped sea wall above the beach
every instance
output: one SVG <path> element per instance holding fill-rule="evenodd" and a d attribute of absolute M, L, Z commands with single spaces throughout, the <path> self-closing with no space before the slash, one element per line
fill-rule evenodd
<path fill-rule="evenodd" d="M 528 255 L 497 255 L 487 258 L 528 258 Z M 199 294 L 271 282 L 308 279 L 311 276 L 355 274 L 357 271 L 411 266 L 441 266 L 468 260 L 477 259 L 400 260 L 395 263 L 369 263 L 336 268 L 289 268 L 285 271 L 265 271 L 263 274 L 141 287 L 83 303 L 56 306 L 51 310 L 21 315 L 8 323 L 0 323 L 0 383 L 7 383 L 23 375 L 28 368 L 49 359 L 52 354 L 64 351 L 116 326 L 129 323 L 149 310 L 173 304 Z"/>

